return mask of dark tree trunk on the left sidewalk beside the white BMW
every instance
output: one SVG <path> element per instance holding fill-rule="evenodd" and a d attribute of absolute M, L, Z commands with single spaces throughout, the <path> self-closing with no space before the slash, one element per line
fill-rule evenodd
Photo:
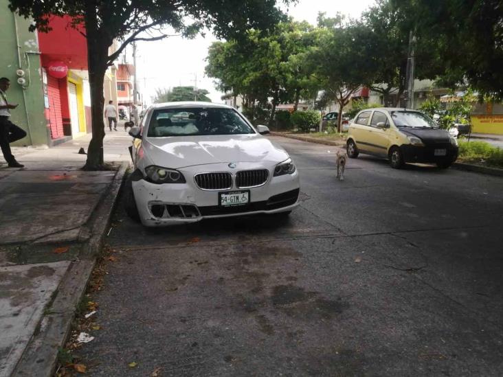
<path fill-rule="evenodd" d="M 94 1 L 87 1 L 85 26 L 87 34 L 87 69 L 91 89 L 92 138 L 87 149 L 87 161 L 83 170 L 102 170 L 103 161 L 103 81 L 107 71 L 109 44 L 98 31 L 98 17 Z M 111 43 L 110 43 L 111 44 Z"/>

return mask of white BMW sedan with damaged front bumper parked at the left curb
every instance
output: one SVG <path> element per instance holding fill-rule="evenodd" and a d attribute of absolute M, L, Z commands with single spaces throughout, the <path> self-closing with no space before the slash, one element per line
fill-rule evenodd
<path fill-rule="evenodd" d="M 156 104 L 129 131 L 134 171 L 124 187 L 126 213 L 148 227 L 288 215 L 298 205 L 298 171 L 267 133 L 230 106 Z"/>

